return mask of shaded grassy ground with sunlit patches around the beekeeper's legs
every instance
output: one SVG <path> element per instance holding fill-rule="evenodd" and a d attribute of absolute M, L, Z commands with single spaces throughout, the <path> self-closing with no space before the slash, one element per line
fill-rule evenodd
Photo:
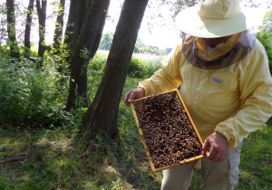
<path fill-rule="evenodd" d="M 272 128 L 245 139 L 236 189 L 269 189 L 272 180 Z M 54 130 L 0 127 L 0 189 L 160 189 L 141 142 L 92 143 L 86 154 L 71 147 L 71 138 Z M 189 189 L 200 189 L 195 171 Z"/>

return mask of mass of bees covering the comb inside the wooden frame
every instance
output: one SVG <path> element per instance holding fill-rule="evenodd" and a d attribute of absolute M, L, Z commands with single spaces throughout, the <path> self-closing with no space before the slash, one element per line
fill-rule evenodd
<path fill-rule="evenodd" d="M 175 94 L 154 95 L 133 105 L 156 168 L 201 154 L 199 139 Z"/>

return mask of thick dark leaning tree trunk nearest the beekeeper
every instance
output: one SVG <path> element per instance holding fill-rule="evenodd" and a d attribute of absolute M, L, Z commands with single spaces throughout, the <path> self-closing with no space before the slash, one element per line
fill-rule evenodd
<path fill-rule="evenodd" d="M 83 119 L 82 132 L 87 141 L 100 132 L 110 138 L 118 135 L 121 92 L 147 4 L 148 0 L 125 0 L 122 6 L 102 81 Z"/>

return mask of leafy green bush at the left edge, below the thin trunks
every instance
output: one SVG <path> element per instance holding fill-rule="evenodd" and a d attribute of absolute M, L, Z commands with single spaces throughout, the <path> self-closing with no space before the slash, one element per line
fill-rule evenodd
<path fill-rule="evenodd" d="M 48 127 L 69 118 L 63 110 L 67 85 L 54 62 L 0 58 L 0 125 Z"/>

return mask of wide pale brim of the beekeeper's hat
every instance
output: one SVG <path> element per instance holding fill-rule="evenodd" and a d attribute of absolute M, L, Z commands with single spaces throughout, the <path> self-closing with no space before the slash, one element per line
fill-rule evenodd
<path fill-rule="evenodd" d="M 264 13 L 256 8 L 242 8 L 242 12 L 228 19 L 210 19 L 201 17 L 197 12 L 199 5 L 189 7 L 176 17 L 180 31 L 202 38 L 216 38 L 240 33 L 262 21 Z"/>

